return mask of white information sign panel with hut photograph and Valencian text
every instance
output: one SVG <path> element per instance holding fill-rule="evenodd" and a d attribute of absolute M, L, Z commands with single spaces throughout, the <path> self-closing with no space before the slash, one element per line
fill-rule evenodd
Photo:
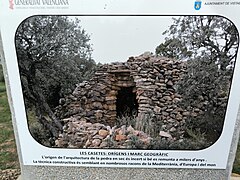
<path fill-rule="evenodd" d="M 225 169 L 239 10 L 232 0 L 1 1 L 24 165 Z"/>

